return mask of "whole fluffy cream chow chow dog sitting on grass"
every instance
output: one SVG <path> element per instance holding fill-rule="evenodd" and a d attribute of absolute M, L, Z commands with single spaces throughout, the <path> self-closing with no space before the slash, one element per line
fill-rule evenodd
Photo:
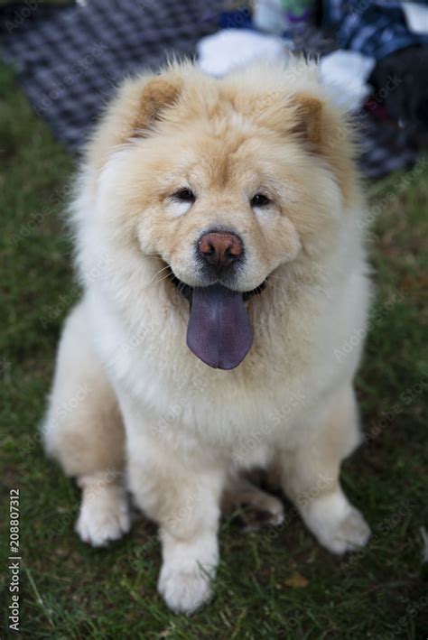
<path fill-rule="evenodd" d="M 282 522 L 253 468 L 330 552 L 368 541 L 339 479 L 360 440 L 364 210 L 311 62 L 222 79 L 173 62 L 126 80 L 88 144 L 70 208 L 84 292 L 44 442 L 81 487 L 83 541 L 129 530 L 129 494 L 159 524 L 175 612 L 210 598 L 222 506 Z"/>

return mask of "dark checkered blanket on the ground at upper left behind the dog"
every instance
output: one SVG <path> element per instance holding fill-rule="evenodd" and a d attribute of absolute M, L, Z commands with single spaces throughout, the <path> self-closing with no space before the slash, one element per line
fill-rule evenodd
<path fill-rule="evenodd" d="M 53 133 L 82 145 L 120 79 L 156 69 L 175 54 L 193 55 L 200 38 L 217 30 L 219 0 L 89 0 L 57 8 L 22 26 L 4 20 L 5 60 Z M 24 7 L 25 5 L 23 5 Z M 7 26 L 9 25 L 9 28 Z"/>

